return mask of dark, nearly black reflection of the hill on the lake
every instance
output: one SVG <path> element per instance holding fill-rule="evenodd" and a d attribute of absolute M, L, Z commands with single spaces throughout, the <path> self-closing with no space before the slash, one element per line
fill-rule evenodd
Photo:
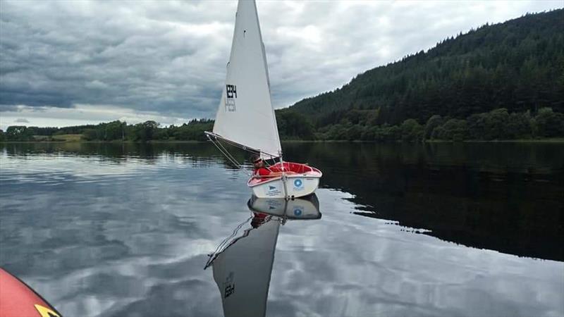
<path fill-rule="evenodd" d="M 336 151 L 336 149 L 338 149 Z M 518 256 L 564 261 L 561 144 L 286 144 L 360 216 Z"/>

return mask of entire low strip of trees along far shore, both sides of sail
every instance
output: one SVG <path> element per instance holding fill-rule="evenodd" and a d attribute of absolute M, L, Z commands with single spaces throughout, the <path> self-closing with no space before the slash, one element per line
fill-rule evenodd
<path fill-rule="evenodd" d="M 540 108 L 534 114 L 530 111 L 510 113 L 507 108 L 498 108 L 463 119 L 434 115 L 425 122 L 410 118 L 398 125 L 379 125 L 378 115 L 377 110 L 342 111 L 335 114 L 338 122 L 316 128 L 300 113 L 290 109 L 276 111 L 281 139 L 422 142 L 564 137 L 564 114 L 548 107 Z M 65 128 L 13 125 L 6 132 L 0 130 L 0 141 L 33 141 L 38 137 L 56 140 L 58 135 L 68 134 L 81 135 L 83 141 L 205 141 L 204 131 L 211 131 L 213 125 L 214 121 L 208 119 L 168 127 L 161 127 L 152 120 L 135 125 L 116 120 Z"/>

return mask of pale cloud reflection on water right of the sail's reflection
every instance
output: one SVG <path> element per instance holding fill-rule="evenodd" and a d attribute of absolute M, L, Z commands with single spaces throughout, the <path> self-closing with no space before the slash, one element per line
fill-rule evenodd
<path fill-rule="evenodd" d="M 269 295 L 275 307 L 289 303 L 290 311 L 305 316 L 554 316 L 564 311 L 558 299 L 564 294 L 563 263 L 405 232 L 387 220 L 350 213 L 354 204 L 335 199 L 341 193 L 319 190 L 318 196 L 322 223 L 281 229 Z M 297 251 L 303 247 L 299 239 L 317 250 Z M 282 315 L 269 309 L 269 316 Z"/>

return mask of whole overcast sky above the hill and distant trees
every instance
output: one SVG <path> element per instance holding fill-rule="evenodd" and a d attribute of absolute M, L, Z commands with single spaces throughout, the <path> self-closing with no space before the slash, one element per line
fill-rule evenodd
<path fill-rule="evenodd" d="M 235 1 L 0 1 L 0 128 L 214 118 Z M 274 106 L 563 1 L 258 1 Z"/>

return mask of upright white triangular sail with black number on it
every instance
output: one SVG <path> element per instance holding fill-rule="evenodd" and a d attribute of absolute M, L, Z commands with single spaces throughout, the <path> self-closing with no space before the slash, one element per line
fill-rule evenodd
<path fill-rule="evenodd" d="M 260 150 L 264 159 L 281 153 L 255 0 L 240 0 L 237 7 L 231 57 L 214 133 Z"/>

